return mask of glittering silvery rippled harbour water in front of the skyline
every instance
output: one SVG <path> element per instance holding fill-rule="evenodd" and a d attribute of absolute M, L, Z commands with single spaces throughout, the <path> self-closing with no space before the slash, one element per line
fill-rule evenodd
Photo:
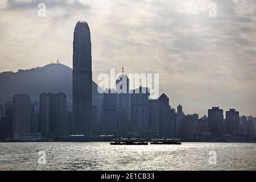
<path fill-rule="evenodd" d="M 0 143 L 0 170 L 255 170 L 255 148 L 254 143 Z M 40 150 L 46 165 L 38 164 Z M 216 165 L 209 164 L 209 151 L 216 151 Z"/>

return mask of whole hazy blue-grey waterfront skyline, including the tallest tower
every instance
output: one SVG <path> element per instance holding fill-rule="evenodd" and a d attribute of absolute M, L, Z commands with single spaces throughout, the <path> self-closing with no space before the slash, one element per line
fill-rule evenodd
<path fill-rule="evenodd" d="M 230 109 L 224 118 L 219 107 L 212 107 L 202 118 L 199 114 L 185 115 L 181 105 L 177 110 L 170 106 L 164 93 L 158 99 L 150 99 L 148 88 L 140 86 L 130 90 L 129 78 L 124 73 L 116 80 L 116 86 L 124 79 L 126 92 L 109 90 L 111 92 L 95 94 L 90 30 L 86 22 L 80 21 L 73 40 L 72 109 L 67 109 L 65 93 L 44 92 L 34 101 L 28 94 L 15 94 L 13 101 L 0 104 L 0 138 L 255 139 L 255 117 L 241 117 L 238 111 Z"/>

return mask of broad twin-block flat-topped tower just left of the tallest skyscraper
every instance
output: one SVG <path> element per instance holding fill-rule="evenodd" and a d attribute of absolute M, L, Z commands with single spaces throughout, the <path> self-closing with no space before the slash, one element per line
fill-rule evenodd
<path fill-rule="evenodd" d="M 40 94 L 40 132 L 43 137 L 65 135 L 67 96 L 64 93 Z"/>

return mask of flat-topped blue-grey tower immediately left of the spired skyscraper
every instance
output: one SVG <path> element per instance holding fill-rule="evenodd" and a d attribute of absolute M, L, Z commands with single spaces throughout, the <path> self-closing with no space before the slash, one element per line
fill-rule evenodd
<path fill-rule="evenodd" d="M 116 134 L 118 131 L 117 123 L 117 97 L 116 94 L 109 90 L 104 93 L 102 106 L 102 123 L 101 133 Z"/>

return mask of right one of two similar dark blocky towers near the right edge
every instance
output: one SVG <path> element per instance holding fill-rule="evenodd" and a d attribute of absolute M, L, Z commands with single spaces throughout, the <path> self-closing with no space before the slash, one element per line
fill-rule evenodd
<path fill-rule="evenodd" d="M 229 109 L 229 111 L 226 111 L 226 134 L 240 134 L 239 112 L 235 109 Z"/>

